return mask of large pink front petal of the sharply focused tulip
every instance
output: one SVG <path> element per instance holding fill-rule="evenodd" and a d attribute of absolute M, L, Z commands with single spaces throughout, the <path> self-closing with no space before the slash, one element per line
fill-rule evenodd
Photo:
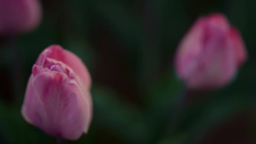
<path fill-rule="evenodd" d="M 88 130 L 88 100 L 66 74 L 53 71 L 36 75 L 26 96 L 22 109 L 25 119 L 46 133 L 75 140 Z"/>

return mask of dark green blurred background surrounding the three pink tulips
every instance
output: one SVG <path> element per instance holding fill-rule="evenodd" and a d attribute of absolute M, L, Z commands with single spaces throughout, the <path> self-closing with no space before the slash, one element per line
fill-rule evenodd
<path fill-rule="evenodd" d="M 56 138 L 29 125 L 21 104 L 32 65 L 59 44 L 88 67 L 93 120 L 72 144 L 256 144 L 256 1 L 42 0 L 35 31 L 0 37 L 0 143 Z M 240 29 L 248 61 L 225 88 L 187 91 L 173 56 L 195 19 L 224 13 Z"/>

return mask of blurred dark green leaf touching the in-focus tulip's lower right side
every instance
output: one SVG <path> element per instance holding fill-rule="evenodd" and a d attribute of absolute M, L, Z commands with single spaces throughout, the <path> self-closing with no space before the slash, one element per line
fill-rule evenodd
<path fill-rule="evenodd" d="M 114 92 L 104 88 L 94 87 L 92 95 L 94 126 L 106 128 L 125 143 L 147 144 L 149 125 L 137 107 L 121 101 Z"/>

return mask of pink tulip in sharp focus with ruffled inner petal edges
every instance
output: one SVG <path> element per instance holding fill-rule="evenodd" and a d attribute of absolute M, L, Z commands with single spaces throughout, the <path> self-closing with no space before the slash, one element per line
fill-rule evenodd
<path fill-rule="evenodd" d="M 83 62 L 59 45 L 37 58 L 29 77 L 22 115 L 49 135 L 75 140 L 92 119 L 91 77 Z"/>

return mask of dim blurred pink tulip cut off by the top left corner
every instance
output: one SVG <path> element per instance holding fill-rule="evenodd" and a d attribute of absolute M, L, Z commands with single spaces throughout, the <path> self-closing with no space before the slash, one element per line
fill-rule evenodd
<path fill-rule="evenodd" d="M 0 35 L 35 29 L 41 19 L 39 0 L 0 0 Z"/>

